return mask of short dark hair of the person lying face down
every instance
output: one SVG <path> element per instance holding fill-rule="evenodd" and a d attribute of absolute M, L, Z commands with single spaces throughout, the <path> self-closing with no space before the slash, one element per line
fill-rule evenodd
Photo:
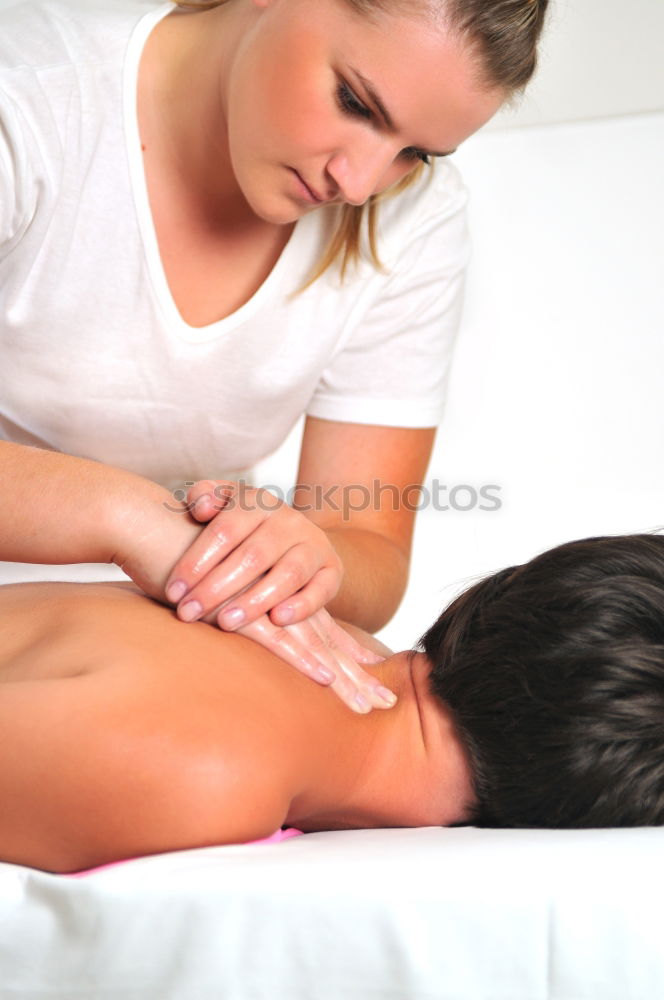
<path fill-rule="evenodd" d="M 664 823 L 664 536 L 587 538 L 458 597 L 424 634 L 496 827 Z"/>

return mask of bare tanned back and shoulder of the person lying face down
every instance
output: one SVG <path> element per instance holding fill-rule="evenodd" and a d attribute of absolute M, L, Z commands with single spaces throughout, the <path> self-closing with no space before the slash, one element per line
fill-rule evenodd
<path fill-rule="evenodd" d="M 71 870 L 267 836 L 307 747 L 354 721 L 273 654 L 131 585 L 2 587 L 0 857 Z"/>

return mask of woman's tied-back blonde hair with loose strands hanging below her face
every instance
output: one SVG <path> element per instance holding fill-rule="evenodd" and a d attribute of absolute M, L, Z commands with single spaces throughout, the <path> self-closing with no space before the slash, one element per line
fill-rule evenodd
<path fill-rule="evenodd" d="M 183 10 L 211 10 L 229 0 L 174 0 Z M 539 41 L 548 0 L 346 0 L 359 14 L 370 17 L 387 10 L 413 16 L 419 3 L 422 12 L 442 16 L 444 22 L 469 46 L 475 57 L 478 82 L 489 90 L 502 90 L 506 100 L 523 90 L 537 64 Z M 367 246 L 373 265 L 381 270 L 376 240 L 378 203 L 400 194 L 422 176 L 419 163 L 381 195 L 372 195 L 364 205 L 342 205 L 337 225 L 321 259 L 304 288 L 308 288 L 333 264 L 343 281 L 348 268 L 361 256 L 362 230 L 366 221 Z M 303 290 L 301 289 L 301 290 Z"/>

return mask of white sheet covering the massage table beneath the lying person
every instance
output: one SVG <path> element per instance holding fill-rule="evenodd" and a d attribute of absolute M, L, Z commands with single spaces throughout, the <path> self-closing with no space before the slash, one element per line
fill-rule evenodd
<path fill-rule="evenodd" d="M 0 865 L 0 998 L 657 1000 L 664 830 L 359 830 Z"/>

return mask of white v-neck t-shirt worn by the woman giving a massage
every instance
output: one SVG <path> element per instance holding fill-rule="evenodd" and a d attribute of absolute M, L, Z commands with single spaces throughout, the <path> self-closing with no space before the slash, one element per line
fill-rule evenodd
<path fill-rule="evenodd" d="M 173 487 L 250 468 L 302 413 L 436 425 L 468 257 L 448 162 L 381 204 L 387 273 L 364 261 L 293 297 L 331 231 L 336 209 L 321 208 L 245 305 L 206 327 L 183 321 L 136 117 L 143 45 L 172 9 L 30 0 L 0 12 L 0 437 Z"/>

